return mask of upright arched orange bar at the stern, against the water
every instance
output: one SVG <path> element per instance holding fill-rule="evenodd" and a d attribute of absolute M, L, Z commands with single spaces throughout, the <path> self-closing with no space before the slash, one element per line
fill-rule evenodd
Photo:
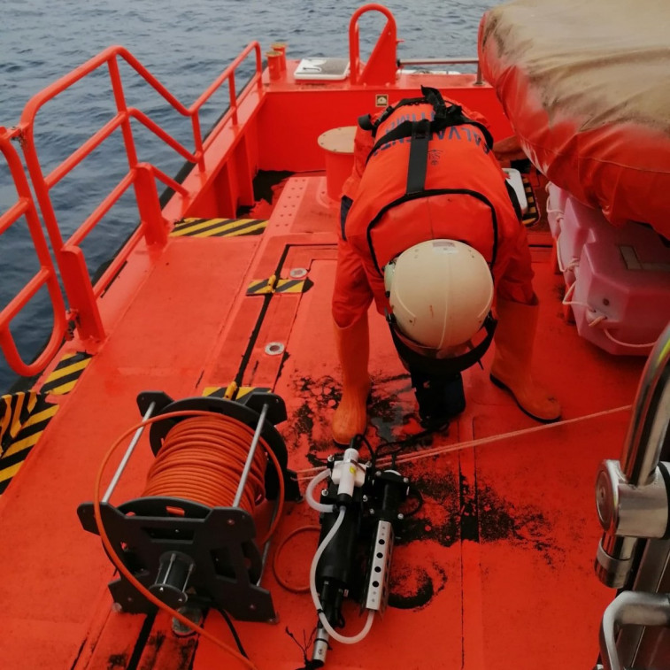
<path fill-rule="evenodd" d="M 358 19 L 366 12 L 381 12 L 386 17 L 386 24 L 381 29 L 370 58 L 365 66 L 362 66 L 358 40 Z M 389 9 L 381 4 L 366 4 L 354 12 L 349 23 L 351 83 L 383 85 L 396 81 L 397 43 L 396 19 L 394 19 Z"/>

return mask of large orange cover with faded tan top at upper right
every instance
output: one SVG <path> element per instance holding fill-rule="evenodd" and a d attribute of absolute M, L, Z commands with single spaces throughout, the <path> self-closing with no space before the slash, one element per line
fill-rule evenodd
<path fill-rule="evenodd" d="M 670 237 L 670 4 L 516 0 L 481 19 L 484 77 L 535 166 L 613 224 Z"/>

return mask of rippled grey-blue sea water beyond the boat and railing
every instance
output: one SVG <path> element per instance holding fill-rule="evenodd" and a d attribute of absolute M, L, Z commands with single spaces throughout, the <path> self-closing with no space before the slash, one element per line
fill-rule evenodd
<path fill-rule="evenodd" d="M 481 14 L 496 4 L 487 0 L 414 0 L 387 2 L 397 20 L 399 58 L 476 56 Z M 288 42 L 289 58 L 346 56 L 350 0 L 4 0 L 0 22 L 0 126 L 19 122 L 27 101 L 52 81 L 81 65 L 110 44 L 121 44 L 189 106 L 251 40 L 268 50 L 272 42 Z M 383 24 L 381 14 L 361 21 L 364 56 Z M 239 82 L 252 71 L 248 62 Z M 168 109 L 147 84 L 121 68 L 127 103 L 147 113 L 190 146 L 189 122 Z M 202 126 L 210 127 L 227 105 L 215 96 L 204 108 Z M 106 71 L 95 73 L 46 104 L 37 114 L 35 138 L 43 173 L 49 173 L 85 142 L 113 114 Z M 183 160 L 147 132 L 137 136 L 140 159 L 175 174 Z M 18 148 L 18 147 L 17 147 Z M 64 181 L 51 199 L 64 238 L 73 233 L 127 171 L 119 131 Z M 4 158 L 0 157 L 0 215 L 16 202 Z M 133 230 L 135 204 L 126 197 L 83 243 L 89 271 L 95 272 Z M 25 220 L 0 236 L 0 310 L 38 267 Z M 50 334 L 51 309 L 42 290 L 12 321 L 12 334 L 23 357 L 30 360 Z M 0 393 L 16 375 L 0 354 Z"/>

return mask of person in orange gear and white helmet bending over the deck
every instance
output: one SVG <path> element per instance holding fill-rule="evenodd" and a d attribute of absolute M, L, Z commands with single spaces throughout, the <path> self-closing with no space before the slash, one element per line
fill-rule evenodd
<path fill-rule="evenodd" d="M 461 372 L 494 332 L 491 381 L 535 420 L 560 416 L 531 375 L 538 303 L 530 252 L 486 122 L 436 89 L 421 93 L 358 120 L 333 295 L 343 371 L 336 443 L 366 431 L 373 299 L 411 374 L 424 427 L 463 412 Z"/>

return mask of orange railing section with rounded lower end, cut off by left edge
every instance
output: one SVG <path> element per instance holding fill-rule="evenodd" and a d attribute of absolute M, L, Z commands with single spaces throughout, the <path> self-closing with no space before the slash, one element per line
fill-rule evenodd
<path fill-rule="evenodd" d="M 16 223 L 22 216 L 26 217 L 28 230 L 33 238 L 37 258 L 40 261 L 40 270 L 28 281 L 27 285 L 12 298 L 12 300 L 0 312 L 0 348 L 12 370 L 17 374 L 31 376 L 41 372 L 60 348 L 65 336 L 65 302 L 58 286 L 56 270 L 51 262 L 49 248 L 47 246 L 40 219 L 37 216 L 35 202 L 28 186 L 26 174 L 16 150 L 12 147 L 10 138 L 12 135 L 4 127 L 0 127 L 0 151 L 3 152 L 7 165 L 12 174 L 12 180 L 16 185 L 19 200 L 10 207 L 7 212 L 0 216 L 0 235 L 7 228 Z M 32 363 L 26 363 L 17 349 L 10 324 L 12 319 L 26 306 L 35 296 L 35 293 L 46 284 L 51 299 L 54 322 L 51 329 L 49 343 L 47 343 L 40 355 Z"/>

